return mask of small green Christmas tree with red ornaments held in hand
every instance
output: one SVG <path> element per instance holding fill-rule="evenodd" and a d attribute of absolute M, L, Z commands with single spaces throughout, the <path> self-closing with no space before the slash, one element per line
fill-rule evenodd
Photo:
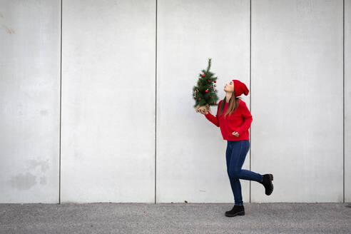
<path fill-rule="evenodd" d="M 211 59 L 208 59 L 207 70 L 202 70 L 202 73 L 199 74 L 198 86 L 193 86 L 196 112 L 199 112 L 201 109 L 210 111 L 210 106 L 218 105 L 217 90 L 215 89 L 217 77 L 213 76 L 215 73 L 210 72 L 210 67 Z"/>

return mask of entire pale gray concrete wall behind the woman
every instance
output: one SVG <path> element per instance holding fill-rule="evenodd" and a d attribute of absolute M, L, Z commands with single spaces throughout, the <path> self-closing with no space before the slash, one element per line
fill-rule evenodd
<path fill-rule="evenodd" d="M 250 88 L 243 168 L 274 175 L 270 196 L 240 180 L 244 203 L 350 202 L 351 0 L 345 34 L 343 9 L 0 1 L 0 203 L 233 203 L 227 143 L 192 107 L 208 58 L 220 98 L 233 78 Z"/>

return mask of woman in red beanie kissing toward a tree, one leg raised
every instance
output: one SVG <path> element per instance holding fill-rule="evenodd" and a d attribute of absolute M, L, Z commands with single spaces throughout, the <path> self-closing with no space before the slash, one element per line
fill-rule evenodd
<path fill-rule="evenodd" d="M 234 195 L 234 206 L 232 210 L 225 212 L 225 216 L 245 215 L 243 195 L 241 194 L 240 180 L 255 180 L 265 187 L 265 194 L 273 192 L 273 175 L 255 173 L 241 169 L 250 148 L 249 131 L 253 121 L 245 102 L 238 98 L 241 94 L 248 95 L 248 87 L 245 83 L 232 80 L 224 86 L 225 98 L 218 103 L 217 114 L 213 116 L 210 112 L 202 110 L 205 117 L 220 127 L 223 140 L 227 141 L 226 162 L 230 186 Z"/>

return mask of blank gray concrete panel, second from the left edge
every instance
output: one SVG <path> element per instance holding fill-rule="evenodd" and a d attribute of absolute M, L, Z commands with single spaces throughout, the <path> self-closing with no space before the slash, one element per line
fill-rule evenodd
<path fill-rule="evenodd" d="M 155 198 L 156 1 L 63 1 L 61 201 Z"/>

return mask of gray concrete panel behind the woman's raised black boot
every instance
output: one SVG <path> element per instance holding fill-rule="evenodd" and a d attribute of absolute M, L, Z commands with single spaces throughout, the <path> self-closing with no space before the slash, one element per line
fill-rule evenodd
<path fill-rule="evenodd" d="M 342 1 L 252 1 L 252 202 L 342 202 Z"/>

